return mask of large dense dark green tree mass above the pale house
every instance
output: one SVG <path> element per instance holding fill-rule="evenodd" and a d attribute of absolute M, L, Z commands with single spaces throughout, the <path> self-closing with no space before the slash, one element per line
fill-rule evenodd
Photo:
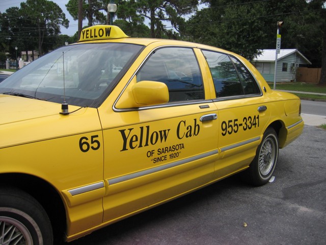
<path fill-rule="evenodd" d="M 320 5 L 313 7 L 306 0 L 202 2 L 209 8 L 189 18 L 181 32 L 183 38 L 219 46 L 251 60 L 259 50 L 276 47 L 277 21 L 282 20 L 281 48 L 297 48 L 314 64 L 320 64 L 322 38 L 317 22 L 321 16 L 316 14 Z"/>

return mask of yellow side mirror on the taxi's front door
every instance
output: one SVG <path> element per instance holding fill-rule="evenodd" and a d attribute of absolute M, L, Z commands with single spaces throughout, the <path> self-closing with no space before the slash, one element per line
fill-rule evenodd
<path fill-rule="evenodd" d="M 169 102 L 169 90 L 165 83 L 141 81 L 126 90 L 116 104 L 117 109 L 154 106 Z"/>

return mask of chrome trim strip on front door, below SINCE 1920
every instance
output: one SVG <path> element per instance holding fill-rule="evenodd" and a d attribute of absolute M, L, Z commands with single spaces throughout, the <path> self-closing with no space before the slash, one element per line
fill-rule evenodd
<path fill-rule="evenodd" d="M 189 158 L 179 160 L 179 161 L 176 161 L 176 162 L 172 162 L 172 163 L 169 163 L 169 164 L 149 168 L 149 169 L 139 171 L 137 173 L 133 173 L 133 174 L 130 174 L 130 175 L 124 175 L 124 176 L 120 176 L 120 177 L 117 177 L 117 178 L 108 179 L 106 181 L 108 182 L 108 185 L 110 186 L 110 185 L 121 183 L 121 182 L 124 182 L 124 181 L 127 181 L 127 180 L 132 180 L 132 179 L 135 179 L 135 178 L 138 178 L 138 177 L 154 174 L 154 173 L 157 173 L 157 172 L 162 171 L 162 170 L 166 170 L 166 169 L 169 169 L 169 168 L 172 168 L 172 167 L 175 167 L 175 166 L 180 166 L 180 165 L 183 165 L 183 164 L 188 163 L 188 162 L 199 160 L 201 158 L 213 156 L 215 154 L 219 154 L 219 151 L 217 149 L 213 150 L 213 151 L 210 151 L 210 152 L 206 152 L 204 154 L 200 154 L 198 156 L 189 157 Z"/>

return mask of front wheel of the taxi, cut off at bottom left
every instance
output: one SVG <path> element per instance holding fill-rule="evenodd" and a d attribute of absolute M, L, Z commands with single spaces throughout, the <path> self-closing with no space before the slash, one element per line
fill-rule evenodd
<path fill-rule="evenodd" d="M 0 187 L 0 244 L 53 244 L 50 220 L 29 194 Z"/>

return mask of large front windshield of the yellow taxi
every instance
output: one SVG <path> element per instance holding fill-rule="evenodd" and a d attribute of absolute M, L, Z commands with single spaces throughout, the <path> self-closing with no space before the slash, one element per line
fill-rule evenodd
<path fill-rule="evenodd" d="M 16 71 L 0 83 L 0 93 L 96 108 L 141 48 L 127 43 L 64 46 Z"/>

